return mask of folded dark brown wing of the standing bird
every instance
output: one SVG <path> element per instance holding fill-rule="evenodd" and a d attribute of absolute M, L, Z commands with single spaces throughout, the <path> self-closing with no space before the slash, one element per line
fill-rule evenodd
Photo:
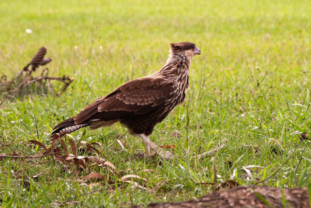
<path fill-rule="evenodd" d="M 74 120 L 79 124 L 90 119 L 109 121 L 150 113 L 160 108 L 173 93 L 173 83 L 168 79 L 154 76 L 137 78 L 87 105 Z"/>

